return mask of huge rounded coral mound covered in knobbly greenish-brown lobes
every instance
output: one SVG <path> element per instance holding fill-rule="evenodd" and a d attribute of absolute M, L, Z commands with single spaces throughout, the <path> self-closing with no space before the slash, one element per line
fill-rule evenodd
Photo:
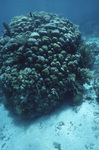
<path fill-rule="evenodd" d="M 8 29 L 0 39 L 5 105 L 35 117 L 51 112 L 69 94 L 81 97 L 89 69 L 77 26 L 56 14 L 34 12 L 13 18 Z"/>

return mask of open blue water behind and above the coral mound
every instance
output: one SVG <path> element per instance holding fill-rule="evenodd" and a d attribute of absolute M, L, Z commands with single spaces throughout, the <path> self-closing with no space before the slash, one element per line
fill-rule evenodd
<path fill-rule="evenodd" d="M 34 11 L 54 12 L 73 23 L 89 28 L 99 25 L 99 0 L 0 0 L 0 35 L 2 22 L 7 23 L 14 16 Z"/>

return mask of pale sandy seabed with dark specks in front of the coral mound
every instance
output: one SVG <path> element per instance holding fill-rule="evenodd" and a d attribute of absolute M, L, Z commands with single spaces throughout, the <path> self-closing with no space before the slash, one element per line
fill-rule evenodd
<path fill-rule="evenodd" d="M 17 122 L 17 119 L 16 119 Z M 79 110 L 62 106 L 31 123 L 14 123 L 0 106 L 0 150 L 98 150 L 99 104 L 85 101 Z"/>

